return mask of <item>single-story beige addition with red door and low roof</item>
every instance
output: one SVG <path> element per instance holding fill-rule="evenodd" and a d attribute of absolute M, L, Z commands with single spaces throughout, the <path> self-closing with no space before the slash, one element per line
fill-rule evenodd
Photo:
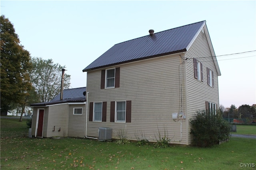
<path fill-rule="evenodd" d="M 32 137 L 84 137 L 86 87 L 65 89 L 50 102 L 33 107 Z"/>

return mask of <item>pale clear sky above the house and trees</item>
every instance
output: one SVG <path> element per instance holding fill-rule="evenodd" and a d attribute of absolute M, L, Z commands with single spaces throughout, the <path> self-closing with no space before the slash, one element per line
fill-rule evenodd
<path fill-rule="evenodd" d="M 70 88 L 85 87 L 82 70 L 113 45 L 148 35 L 149 29 L 157 33 L 206 20 L 222 74 L 220 104 L 256 104 L 255 0 L 1 0 L 0 5 L 31 57 L 66 66 Z"/>

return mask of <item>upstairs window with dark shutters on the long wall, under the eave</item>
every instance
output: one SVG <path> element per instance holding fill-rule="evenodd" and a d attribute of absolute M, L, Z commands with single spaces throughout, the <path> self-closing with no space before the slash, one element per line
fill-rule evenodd
<path fill-rule="evenodd" d="M 101 89 L 118 88 L 120 83 L 120 67 L 101 70 Z"/>

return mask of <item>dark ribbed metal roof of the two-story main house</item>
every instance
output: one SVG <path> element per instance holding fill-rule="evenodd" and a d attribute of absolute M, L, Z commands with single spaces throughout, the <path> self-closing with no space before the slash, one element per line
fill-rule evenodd
<path fill-rule="evenodd" d="M 162 55 L 187 51 L 206 21 L 118 43 L 84 68 L 83 72 Z"/>

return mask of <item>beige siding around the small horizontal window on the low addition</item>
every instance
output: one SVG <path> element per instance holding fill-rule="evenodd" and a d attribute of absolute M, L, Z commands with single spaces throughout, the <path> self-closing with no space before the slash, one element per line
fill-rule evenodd
<path fill-rule="evenodd" d="M 69 105 L 69 122 L 68 122 L 68 136 L 69 137 L 84 137 L 85 135 L 85 116 L 86 107 L 82 105 Z M 82 108 L 82 115 L 74 115 L 74 108 Z"/>

